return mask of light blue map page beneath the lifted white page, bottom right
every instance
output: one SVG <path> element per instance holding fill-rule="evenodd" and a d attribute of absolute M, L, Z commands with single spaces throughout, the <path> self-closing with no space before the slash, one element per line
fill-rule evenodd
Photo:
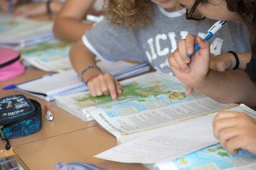
<path fill-rule="evenodd" d="M 211 145 L 173 161 L 157 164 L 160 169 L 203 170 L 203 169 L 256 169 L 256 156 L 246 150 L 231 155 L 220 144 Z"/>

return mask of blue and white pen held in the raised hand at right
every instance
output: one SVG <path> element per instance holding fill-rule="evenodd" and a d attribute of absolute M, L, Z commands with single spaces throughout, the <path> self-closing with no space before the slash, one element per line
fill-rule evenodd
<path fill-rule="evenodd" d="M 226 21 L 220 20 L 220 21 L 216 22 L 213 26 L 211 26 L 211 28 L 208 30 L 208 33 L 205 35 L 205 37 L 203 37 L 203 39 L 209 40 L 225 24 L 226 24 Z M 195 44 L 193 54 L 195 54 L 195 52 L 197 52 L 198 49 L 200 49 L 200 47 L 198 46 L 198 44 Z M 191 55 L 193 55 L 193 54 L 187 54 L 187 57 L 191 57 Z"/>

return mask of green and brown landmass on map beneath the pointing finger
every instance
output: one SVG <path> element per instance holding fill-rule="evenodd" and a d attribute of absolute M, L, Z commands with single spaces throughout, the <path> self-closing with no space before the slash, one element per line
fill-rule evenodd
<path fill-rule="evenodd" d="M 122 94 L 118 95 L 116 100 L 112 100 L 109 95 L 103 95 L 99 97 L 92 97 L 90 95 L 87 95 L 85 97 L 82 97 L 80 99 L 77 99 L 77 102 L 85 102 L 90 101 L 93 104 L 100 104 L 100 103 L 106 103 L 106 102 L 113 102 L 113 101 L 122 101 L 130 98 L 134 98 L 137 100 L 137 102 L 146 102 L 145 99 L 148 97 L 157 97 L 161 94 L 167 94 L 168 100 L 182 100 L 187 97 L 187 95 L 184 92 L 173 92 L 168 91 L 168 88 L 163 88 L 163 86 L 160 86 L 159 83 L 154 83 L 155 86 L 150 87 L 140 87 L 138 83 L 132 82 L 130 84 L 127 84 L 126 86 L 122 87 Z M 166 90 L 163 90 L 166 89 Z M 111 106 L 107 107 L 111 108 Z"/>

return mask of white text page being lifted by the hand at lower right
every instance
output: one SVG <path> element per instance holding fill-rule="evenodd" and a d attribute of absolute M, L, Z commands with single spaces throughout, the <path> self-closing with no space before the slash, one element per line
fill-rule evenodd
<path fill-rule="evenodd" d="M 256 112 L 245 105 L 228 110 L 245 112 L 256 118 Z M 213 136 L 212 127 L 212 121 L 216 114 L 217 112 L 154 129 L 95 157 L 122 163 L 147 164 L 179 158 L 218 143 L 218 140 Z"/>

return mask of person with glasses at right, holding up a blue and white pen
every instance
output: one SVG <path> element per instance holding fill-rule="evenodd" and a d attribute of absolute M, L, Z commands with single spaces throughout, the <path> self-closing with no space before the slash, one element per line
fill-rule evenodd
<path fill-rule="evenodd" d="M 187 35 L 169 56 L 169 65 L 177 78 L 221 102 L 256 106 L 256 1 L 177 0 L 187 8 L 187 18 L 211 18 L 244 22 L 250 33 L 252 57 L 244 70 L 216 71 L 209 69 L 210 44 L 198 36 Z M 241 36 L 243 36 L 241 34 Z M 200 49 L 192 57 L 194 43 Z M 256 121 L 245 113 L 223 111 L 213 121 L 214 135 L 230 153 L 239 148 L 256 155 Z"/>

